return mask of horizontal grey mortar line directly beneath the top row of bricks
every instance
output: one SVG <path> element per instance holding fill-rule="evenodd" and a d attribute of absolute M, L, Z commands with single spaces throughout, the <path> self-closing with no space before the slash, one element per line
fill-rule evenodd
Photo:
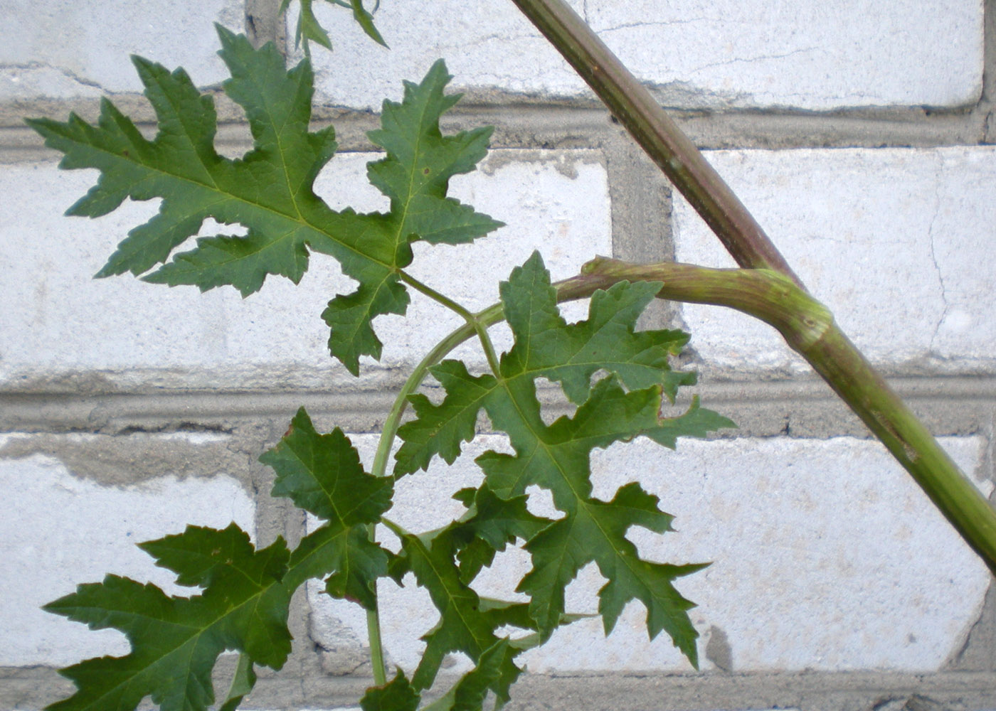
<path fill-rule="evenodd" d="M 130 98 L 126 108 L 139 106 Z M 988 105 L 987 105 L 988 106 Z M 95 119 L 96 102 L 38 103 L 0 106 L 0 163 L 24 160 L 52 160 L 56 155 L 42 145 L 34 131 L 20 124 L 23 116 L 51 116 L 65 119 L 70 109 Z M 151 128 L 147 111 L 131 111 L 139 127 Z M 15 116 L 16 115 L 16 116 Z M 697 145 L 712 148 L 834 148 L 834 147 L 933 147 L 978 144 L 978 111 L 969 113 L 928 113 L 919 109 L 885 110 L 880 113 L 791 114 L 779 112 L 731 111 L 706 113 L 673 112 L 677 122 Z M 16 120 L 15 120 L 16 119 Z M 333 122 L 344 150 L 364 150 L 373 146 L 366 131 L 375 117 L 362 112 L 321 109 L 314 127 Z M 492 147 L 557 148 L 602 147 L 615 128 L 606 111 L 591 106 L 492 105 L 454 110 L 446 120 L 447 129 L 471 124 L 496 125 Z M 6 125 L 2 125 L 6 124 Z M 236 120 L 219 122 L 219 145 L 249 147 L 248 130 Z"/>

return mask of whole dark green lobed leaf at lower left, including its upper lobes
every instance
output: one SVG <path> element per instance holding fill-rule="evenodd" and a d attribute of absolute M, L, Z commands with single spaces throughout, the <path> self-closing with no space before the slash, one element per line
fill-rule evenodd
<path fill-rule="evenodd" d="M 274 468 L 275 496 L 325 520 L 292 552 L 283 539 L 256 551 L 232 524 L 224 531 L 189 526 L 177 536 L 140 545 L 176 574 L 191 597 L 168 596 L 117 576 L 46 605 L 94 629 L 124 632 L 131 652 L 90 659 L 62 671 L 79 690 L 51 708 L 130 711 L 145 697 L 163 711 L 201 711 L 214 700 L 211 670 L 226 649 L 241 652 L 222 707 L 233 709 L 255 682 L 253 664 L 279 669 L 291 650 L 291 595 L 305 581 L 327 578 L 328 592 L 373 607 L 373 585 L 390 554 L 367 526 L 390 506 L 392 482 L 366 474 L 340 430 L 315 431 L 302 408 L 280 443 L 261 457 Z"/>

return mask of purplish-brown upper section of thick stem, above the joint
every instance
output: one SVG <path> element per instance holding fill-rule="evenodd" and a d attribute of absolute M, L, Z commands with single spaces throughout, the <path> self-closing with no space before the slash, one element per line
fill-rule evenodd
<path fill-rule="evenodd" d="M 796 282 L 785 258 L 695 145 L 563 0 L 512 0 L 588 82 L 716 233 L 737 264 Z"/>

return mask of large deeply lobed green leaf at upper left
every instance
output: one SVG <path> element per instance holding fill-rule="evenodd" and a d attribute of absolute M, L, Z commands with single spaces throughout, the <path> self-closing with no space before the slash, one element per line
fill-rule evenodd
<path fill-rule="evenodd" d="M 308 7 L 306 2 L 303 9 Z M 312 252 L 336 258 L 360 284 L 325 312 L 333 327 L 330 350 L 356 374 L 361 355 L 380 355 L 373 319 L 405 312 L 408 295 L 399 271 L 411 262 L 411 242 L 469 242 L 501 225 L 446 197 L 449 178 L 473 170 L 485 154 L 491 129 L 442 135 L 439 118 L 458 97 L 444 95 L 450 77 L 437 62 L 421 84 L 405 84 L 403 102 L 384 104 L 382 128 L 371 134 L 387 154 L 371 164 L 370 179 L 390 198 L 390 211 L 333 210 L 313 187 L 337 143 L 331 126 L 308 129 L 310 63 L 288 71 L 273 45 L 254 50 L 243 36 L 222 27 L 218 34 L 219 54 L 232 75 L 225 93 L 245 111 L 254 139 L 241 158 L 215 150 L 212 99 L 201 96 L 183 70 L 170 73 L 141 58 L 133 61 L 158 119 L 154 139 L 143 137 L 108 101 L 96 126 L 75 115 L 66 122 L 28 123 L 66 154 L 61 167 L 101 172 L 70 214 L 98 217 L 126 198 L 161 199 L 158 213 L 128 233 L 98 276 L 145 274 L 145 281 L 202 291 L 231 285 L 248 296 L 269 275 L 298 283 Z M 201 237 L 194 249 L 167 262 L 207 218 L 242 225 L 246 234 Z"/>

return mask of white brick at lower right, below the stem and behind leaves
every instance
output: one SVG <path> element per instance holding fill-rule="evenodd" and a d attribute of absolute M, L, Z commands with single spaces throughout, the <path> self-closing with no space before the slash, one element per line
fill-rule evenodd
<path fill-rule="evenodd" d="M 354 441 L 372 458 L 372 435 Z M 965 471 L 980 466 L 981 438 L 942 443 Z M 507 451 L 502 438 L 480 436 L 453 467 L 437 460 L 427 474 L 402 479 L 388 515 L 402 526 L 422 527 L 416 530 L 459 515 L 459 505 L 446 505 L 448 496 L 480 481 L 471 458 L 487 447 Z M 603 499 L 628 473 L 652 472 L 643 477 L 644 487 L 675 515 L 678 533 L 632 529 L 629 538 L 641 555 L 670 563 L 713 561 L 677 584 L 699 604 L 691 616 L 703 633 L 704 669 L 713 667 L 704 649 L 716 627 L 727 635 L 738 671 L 935 670 L 981 610 L 990 580 L 985 566 L 876 442 L 682 440 L 670 452 L 640 439 L 596 452 L 594 471 L 596 496 Z M 393 546 L 389 534 L 378 535 Z M 501 554 L 475 586 L 518 598 L 512 591 L 529 569 L 527 555 Z M 422 648 L 417 637 L 437 615 L 427 593 L 410 578 L 405 583 L 400 590 L 381 582 L 381 621 L 391 661 L 411 669 Z M 584 569 L 568 589 L 569 608 L 596 611 L 603 584 L 594 565 Z M 334 647 L 344 634 L 366 639 L 358 605 L 334 601 L 319 586 L 309 589 L 309 599 L 317 611 L 317 641 Z M 522 661 L 541 672 L 689 668 L 666 634 L 647 641 L 638 603 L 626 607 L 608 639 L 600 619 L 577 622 Z M 450 670 L 465 667 L 461 659 Z"/>

